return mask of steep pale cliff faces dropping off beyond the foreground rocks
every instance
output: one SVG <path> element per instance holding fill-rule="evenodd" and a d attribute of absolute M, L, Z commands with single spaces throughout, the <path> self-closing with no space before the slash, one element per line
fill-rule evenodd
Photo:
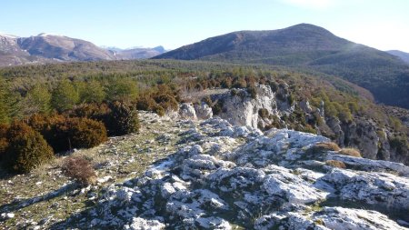
<path fill-rule="evenodd" d="M 323 124 L 314 125 L 314 132 L 330 137 L 338 145 L 357 148 L 366 158 L 409 164 L 407 149 L 406 152 L 399 151 L 390 145 L 394 134 L 388 129 L 379 127 L 374 120 L 365 117 L 355 116 L 352 121 L 341 122 L 337 117 L 325 116 L 324 102 L 314 109 L 306 99 L 293 102 L 288 85 L 279 85 L 276 92 L 268 85 L 256 85 L 255 96 L 249 94 L 246 89 L 232 89 L 212 95 L 211 98 L 213 104 L 219 106 L 215 115 L 232 125 L 245 125 L 262 130 L 296 126 L 298 130 L 307 130 L 305 124 L 319 119 Z M 298 111 L 295 111 L 295 106 L 299 108 Z M 296 119 L 304 120 L 296 120 L 293 125 L 290 124 L 288 117 L 297 117 L 297 113 L 303 113 L 303 116 Z M 181 105 L 179 114 L 192 119 L 207 119 L 214 115 L 211 107 L 204 102 L 200 105 Z"/>

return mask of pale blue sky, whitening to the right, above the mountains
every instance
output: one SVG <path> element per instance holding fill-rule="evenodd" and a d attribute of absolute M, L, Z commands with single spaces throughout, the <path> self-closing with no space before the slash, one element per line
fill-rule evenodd
<path fill-rule="evenodd" d="M 0 33 L 42 32 L 118 47 L 174 49 L 237 30 L 300 23 L 409 52 L 408 0 L 2 0 Z"/>

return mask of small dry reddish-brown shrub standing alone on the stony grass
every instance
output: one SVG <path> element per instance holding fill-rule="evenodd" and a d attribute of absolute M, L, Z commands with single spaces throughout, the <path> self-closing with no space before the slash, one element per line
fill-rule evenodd
<path fill-rule="evenodd" d="M 91 163 L 81 156 L 69 156 L 62 165 L 63 174 L 75 179 L 82 185 L 95 183 L 96 174 Z"/>

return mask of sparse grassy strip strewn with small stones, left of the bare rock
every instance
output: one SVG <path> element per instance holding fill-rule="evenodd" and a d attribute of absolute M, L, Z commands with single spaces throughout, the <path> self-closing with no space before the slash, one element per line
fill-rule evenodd
<path fill-rule="evenodd" d="M 78 150 L 95 165 L 96 185 L 80 187 L 61 173 L 65 156 L 55 157 L 27 175 L 0 169 L 0 229 L 44 229 L 95 206 L 107 185 L 143 175 L 149 165 L 175 153 L 176 143 L 190 125 L 140 112 L 139 134 L 112 137 L 104 145 Z"/>

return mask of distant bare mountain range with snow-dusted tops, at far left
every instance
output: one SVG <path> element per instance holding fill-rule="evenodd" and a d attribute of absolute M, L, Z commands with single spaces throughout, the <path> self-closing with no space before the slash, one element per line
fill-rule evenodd
<path fill-rule="evenodd" d="M 0 35 L 0 66 L 67 61 L 99 61 L 150 58 L 164 47 L 110 49 L 64 35 L 40 34 L 30 37 Z"/>

